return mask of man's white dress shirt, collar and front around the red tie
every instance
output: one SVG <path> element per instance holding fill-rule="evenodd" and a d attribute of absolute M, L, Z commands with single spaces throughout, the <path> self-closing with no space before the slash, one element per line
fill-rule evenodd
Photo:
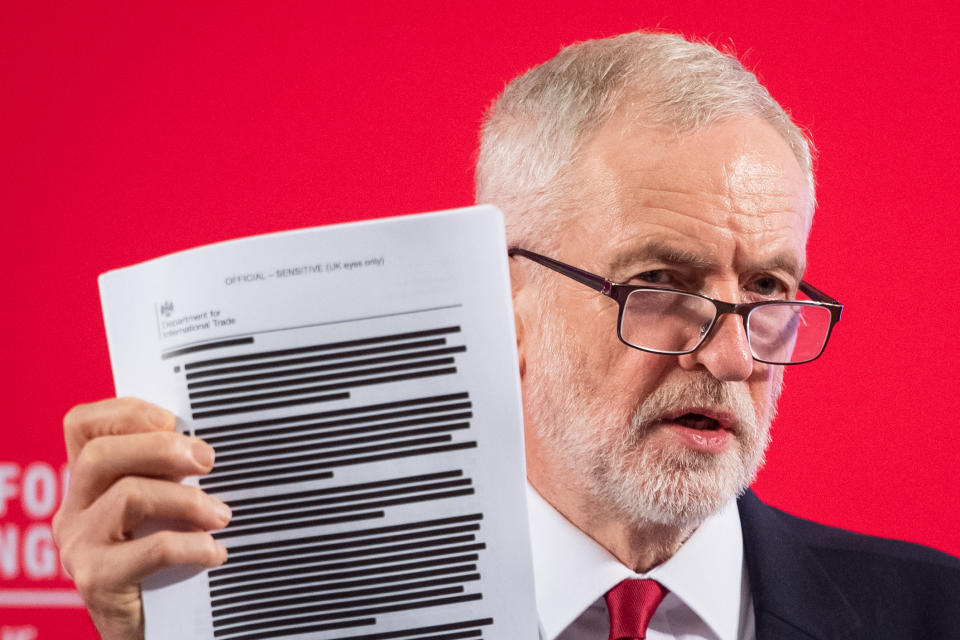
<path fill-rule="evenodd" d="M 736 502 L 707 519 L 663 564 L 638 574 L 527 485 L 533 573 L 543 640 L 606 640 L 603 595 L 626 578 L 667 589 L 647 640 L 753 640 L 753 601 Z"/>

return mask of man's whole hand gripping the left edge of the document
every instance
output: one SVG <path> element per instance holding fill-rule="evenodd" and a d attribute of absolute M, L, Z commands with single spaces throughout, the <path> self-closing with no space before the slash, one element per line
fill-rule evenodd
<path fill-rule="evenodd" d="M 104 640 L 143 638 L 140 581 L 172 565 L 214 567 L 226 549 L 206 533 L 223 502 L 179 484 L 213 466 L 213 449 L 174 430 L 168 411 L 134 398 L 78 405 L 63 420 L 70 488 L 53 518 L 64 569 Z M 142 538 L 138 526 L 176 526 Z"/>

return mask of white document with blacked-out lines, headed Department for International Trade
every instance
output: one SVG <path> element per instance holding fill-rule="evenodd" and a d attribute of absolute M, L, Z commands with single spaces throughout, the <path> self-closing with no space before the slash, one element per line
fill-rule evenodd
<path fill-rule="evenodd" d="M 492 207 L 246 238 L 100 278 L 117 394 L 214 446 L 229 560 L 147 640 L 537 637 Z"/>

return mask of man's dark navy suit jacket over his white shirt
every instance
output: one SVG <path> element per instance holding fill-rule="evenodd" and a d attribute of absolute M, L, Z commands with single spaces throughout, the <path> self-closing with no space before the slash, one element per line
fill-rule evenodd
<path fill-rule="evenodd" d="M 757 640 L 960 640 L 957 558 L 738 506 Z"/>

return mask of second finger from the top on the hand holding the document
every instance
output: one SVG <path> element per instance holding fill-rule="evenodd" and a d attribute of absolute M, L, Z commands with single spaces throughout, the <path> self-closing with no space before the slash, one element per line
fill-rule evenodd
<path fill-rule="evenodd" d="M 213 447 L 199 438 L 154 431 L 91 440 L 74 462 L 66 510 L 85 509 L 123 476 L 176 479 L 213 468 Z"/>

